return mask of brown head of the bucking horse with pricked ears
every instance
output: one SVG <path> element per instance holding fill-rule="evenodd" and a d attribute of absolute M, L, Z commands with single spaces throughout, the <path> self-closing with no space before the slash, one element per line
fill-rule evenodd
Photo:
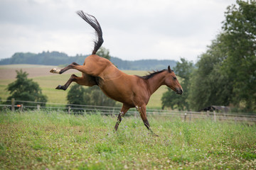
<path fill-rule="evenodd" d="M 182 94 L 183 93 L 183 89 L 181 87 L 181 84 L 178 83 L 178 79 L 177 79 L 176 75 L 174 74 L 174 71 L 171 70 L 170 66 L 167 69 L 165 84 L 166 84 L 166 86 L 171 88 L 173 91 L 175 91 L 176 94 Z"/>

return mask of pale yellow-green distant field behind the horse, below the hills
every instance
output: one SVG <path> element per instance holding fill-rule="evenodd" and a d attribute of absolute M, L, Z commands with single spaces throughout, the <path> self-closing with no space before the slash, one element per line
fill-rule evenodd
<path fill-rule="evenodd" d="M 81 75 L 80 72 L 70 69 L 64 74 L 51 74 L 50 69 L 55 66 L 44 66 L 44 65 L 32 65 L 32 64 L 14 64 L 14 65 L 2 65 L 0 66 L 0 98 L 6 99 L 9 93 L 5 90 L 7 85 L 15 80 L 16 72 L 15 70 L 22 69 L 24 72 L 28 72 L 28 77 L 33 79 L 33 81 L 40 84 L 43 94 L 48 96 L 48 102 L 50 103 L 67 103 L 66 96 L 67 91 L 55 90 L 55 87 L 59 84 L 63 85 L 70 78 L 70 75 L 75 73 L 78 76 Z M 123 72 L 127 74 L 136 74 L 139 76 L 144 76 L 147 74 L 146 71 L 134 71 L 134 70 L 124 70 Z M 149 108 L 161 108 L 161 96 L 167 91 L 166 86 L 161 86 L 152 96 L 149 101 Z"/>

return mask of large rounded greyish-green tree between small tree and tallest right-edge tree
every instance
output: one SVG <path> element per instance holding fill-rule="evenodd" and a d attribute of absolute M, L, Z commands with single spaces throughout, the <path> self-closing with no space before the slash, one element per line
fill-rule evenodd
<path fill-rule="evenodd" d="M 220 72 L 227 53 L 223 45 L 224 36 L 220 34 L 212 41 L 208 50 L 199 57 L 197 69 L 191 74 L 188 103 L 195 111 L 212 105 L 228 106 L 230 103 L 232 81 L 227 74 Z"/>

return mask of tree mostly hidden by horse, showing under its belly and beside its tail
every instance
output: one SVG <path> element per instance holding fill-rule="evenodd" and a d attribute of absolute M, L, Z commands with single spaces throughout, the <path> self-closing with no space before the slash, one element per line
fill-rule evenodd
<path fill-rule="evenodd" d="M 110 52 L 104 47 L 100 47 L 97 52 L 100 57 L 105 57 L 110 60 Z M 99 86 L 83 87 L 79 84 L 71 86 L 68 91 L 68 103 L 79 105 L 93 105 L 93 106 L 117 106 L 117 102 L 108 98 L 101 90 Z"/>

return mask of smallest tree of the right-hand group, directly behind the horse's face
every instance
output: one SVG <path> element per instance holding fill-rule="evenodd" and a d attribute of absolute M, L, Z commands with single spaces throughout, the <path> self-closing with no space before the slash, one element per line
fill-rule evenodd
<path fill-rule="evenodd" d="M 193 70 L 193 62 L 188 62 L 184 58 L 181 58 L 181 62 L 177 62 L 174 71 L 179 77 L 179 82 L 183 88 L 184 93 L 181 96 L 177 96 L 174 91 L 168 88 L 161 97 L 162 108 L 178 108 L 178 110 L 189 110 L 188 106 L 188 84 L 191 72 Z"/>

